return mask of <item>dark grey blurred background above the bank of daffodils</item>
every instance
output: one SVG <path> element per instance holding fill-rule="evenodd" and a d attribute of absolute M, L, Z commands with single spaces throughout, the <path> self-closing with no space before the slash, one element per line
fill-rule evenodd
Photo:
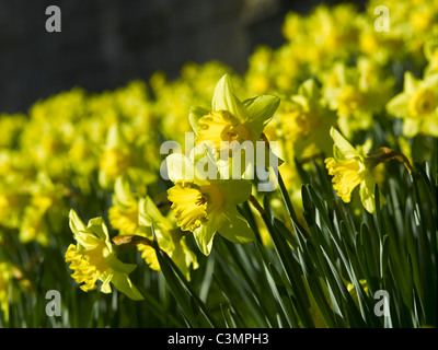
<path fill-rule="evenodd" d="M 325 1 L 337 3 L 338 1 Z M 289 10 L 319 1 L 0 0 L 0 113 L 26 112 L 38 98 L 73 86 L 115 89 L 188 60 L 220 60 L 243 73 L 257 44 L 278 47 Z M 48 33 L 48 5 L 61 33 Z"/>

